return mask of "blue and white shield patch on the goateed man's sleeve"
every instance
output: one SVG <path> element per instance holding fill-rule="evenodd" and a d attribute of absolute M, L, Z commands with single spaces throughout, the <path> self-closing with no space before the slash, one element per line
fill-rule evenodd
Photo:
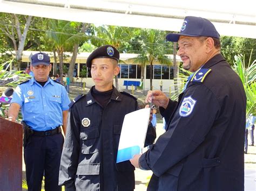
<path fill-rule="evenodd" d="M 179 115 L 181 117 L 189 116 L 192 113 L 196 103 L 197 103 L 197 100 L 194 100 L 191 96 L 184 97 L 184 100 L 181 103 L 179 108 Z"/>

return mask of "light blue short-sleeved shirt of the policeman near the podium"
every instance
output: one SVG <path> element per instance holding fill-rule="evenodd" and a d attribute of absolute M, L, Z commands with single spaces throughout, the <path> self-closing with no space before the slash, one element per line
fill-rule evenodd
<path fill-rule="evenodd" d="M 11 103 L 21 105 L 23 120 L 35 131 L 55 129 L 63 124 L 63 111 L 69 109 L 65 87 L 48 77 L 42 87 L 32 77 L 14 91 Z"/>

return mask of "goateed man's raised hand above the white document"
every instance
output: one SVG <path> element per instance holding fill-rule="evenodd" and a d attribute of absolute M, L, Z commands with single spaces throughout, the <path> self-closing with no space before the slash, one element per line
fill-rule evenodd
<path fill-rule="evenodd" d="M 153 94 L 153 96 L 152 96 L 152 94 Z M 154 90 L 154 91 L 147 92 L 145 102 L 150 103 L 151 101 L 153 104 L 163 107 L 164 109 L 166 109 L 167 105 L 169 104 L 169 98 L 160 90 Z"/>

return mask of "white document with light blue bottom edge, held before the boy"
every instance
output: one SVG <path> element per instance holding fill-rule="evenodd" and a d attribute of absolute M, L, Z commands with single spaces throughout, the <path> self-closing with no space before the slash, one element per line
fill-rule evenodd
<path fill-rule="evenodd" d="M 140 154 L 149 125 L 150 108 L 144 108 L 126 114 L 120 135 L 117 163 L 130 160 L 134 154 Z"/>

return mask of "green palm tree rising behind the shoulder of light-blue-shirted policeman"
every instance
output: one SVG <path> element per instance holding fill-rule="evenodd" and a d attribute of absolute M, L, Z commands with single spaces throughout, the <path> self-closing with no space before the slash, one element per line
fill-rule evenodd
<path fill-rule="evenodd" d="M 59 58 L 59 75 L 60 81 L 63 82 L 63 61 L 64 52 L 71 52 L 73 45 L 82 39 L 85 39 L 83 33 L 77 33 L 76 22 L 68 22 L 65 20 L 49 20 L 48 37 L 52 41 L 53 48 L 56 49 Z"/>

